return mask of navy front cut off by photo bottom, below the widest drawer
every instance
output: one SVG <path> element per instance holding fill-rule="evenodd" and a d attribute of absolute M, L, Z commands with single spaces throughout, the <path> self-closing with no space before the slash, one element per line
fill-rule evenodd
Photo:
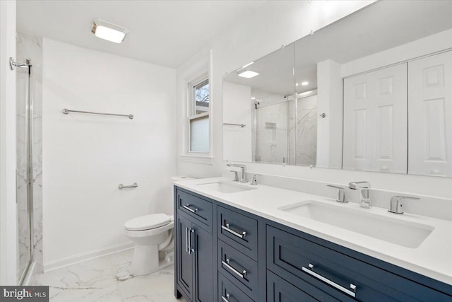
<path fill-rule="evenodd" d="M 310 286 L 305 291 L 290 284 L 285 279 L 278 277 L 267 271 L 267 301 L 268 302 L 299 302 L 299 301 L 339 301 L 326 295 L 314 286 Z"/>

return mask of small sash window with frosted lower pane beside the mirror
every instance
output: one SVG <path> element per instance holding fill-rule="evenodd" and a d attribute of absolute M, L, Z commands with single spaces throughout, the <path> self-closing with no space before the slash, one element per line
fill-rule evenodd
<path fill-rule="evenodd" d="M 189 152 L 209 152 L 209 79 L 189 84 Z"/>

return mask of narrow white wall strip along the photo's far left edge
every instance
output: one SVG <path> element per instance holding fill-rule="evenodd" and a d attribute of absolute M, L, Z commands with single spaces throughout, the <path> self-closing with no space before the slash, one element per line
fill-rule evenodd
<path fill-rule="evenodd" d="M 16 285 L 16 1 L 0 1 L 0 284 Z"/>

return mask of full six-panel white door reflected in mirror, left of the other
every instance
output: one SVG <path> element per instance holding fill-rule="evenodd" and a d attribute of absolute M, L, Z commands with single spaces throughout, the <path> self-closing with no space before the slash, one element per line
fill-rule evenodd
<path fill-rule="evenodd" d="M 344 80 L 344 169 L 407 173 L 407 99 L 407 64 Z"/>

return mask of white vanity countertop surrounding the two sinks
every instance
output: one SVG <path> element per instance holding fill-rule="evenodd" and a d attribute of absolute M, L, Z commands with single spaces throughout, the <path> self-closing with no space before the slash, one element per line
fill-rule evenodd
<path fill-rule="evenodd" d="M 204 178 L 174 182 L 174 185 L 452 285 L 452 221 L 409 213 L 396 215 L 379 207 L 362 209 L 355 202 L 340 204 L 335 202 L 335 199 L 328 197 L 268 185 L 254 186 L 234 182 L 233 185 L 256 188 L 256 190 L 235 193 L 222 193 L 199 186 L 219 181 L 232 183 L 232 180 L 228 178 Z M 315 200 L 355 211 L 364 211 L 363 214 L 371 212 L 391 219 L 396 217 L 402 221 L 422 223 L 433 226 L 434 231 L 418 248 L 406 248 L 278 209 L 305 200 Z"/>

